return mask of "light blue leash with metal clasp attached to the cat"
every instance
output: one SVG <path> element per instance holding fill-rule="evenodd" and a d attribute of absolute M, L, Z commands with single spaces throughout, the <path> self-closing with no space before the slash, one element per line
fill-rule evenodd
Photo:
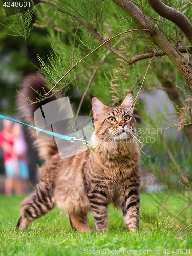
<path fill-rule="evenodd" d="M 5 119 L 5 120 L 8 120 L 8 121 L 11 121 L 11 122 L 14 122 L 14 123 L 20 123 L 20 124 L 26 125 L 28 127 L 31 127 L 31 128 L 33 128 L 35 130 L 38 130 L 40 132 L 47 133 L 49 135 L 52 135 L 54 137 L 57 137 L 57 138 L 60 138 L 60 139 L 63 139 L 63 140 L 68 140 L 68 141 L 71 141 L 71 142 L 81 141 L 85 145 L 89 145 L 90 144 L 89 141 L 86 141 L 86 140 L 83 140 L 83 139 L 76 139 L 75 137 L 69 137 L 69 136 L 66 136 L 66 135 L 59 134 L 59 133 L 54 133 L 54 132 L 51 132 L 51 131 L 40 129 L 38 127 L 34 127 L 34 126 L 28 125 L 26 123 L 19 122 L 17 120 L 14 120 L 12 118 L 9 118 L 9 117 L 3 116 L 3 115 L 0 115 L 0 119 Z"/>

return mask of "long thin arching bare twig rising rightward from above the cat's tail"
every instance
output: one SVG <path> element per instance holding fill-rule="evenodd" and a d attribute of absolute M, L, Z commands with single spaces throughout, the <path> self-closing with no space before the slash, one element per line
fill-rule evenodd
<path fill-rule="evenodd" d="M 117 36 L 120 36 L 122 34 L 125 34 L 125 33 L 129 33 L 129 32 L 132 32 L 132 31 L 138 31 L 138 30 L 144 30 L 144 31 L 148 31 L 147 29 L 132 29 L 132 30 L 127 30 L 127 31 L 124 31 L 118 35 L 115 35 L 113 37 L 111 37 L 110 39 L 106 40 L 103 42 L 103 44 L 101 44 L 100 46 L 98 46 L 96 49 L 94 49 L 92 52 L 90 52 L 88 55 L 86 55 L 85 57 L 83 57 L 81 60 L 79 60 L 71 69 L 68 70 L 68 72 L 63 76 L 61 77 L 61 79 L 55 84 L 55 86 L 44 96 L 47 97 L 47 95 L 52 92 L 52 90 L 58 85 L 58 83 L 67 76 L 67 74 L 69 74 L 69 72 L 74 69 L 80 62 L 82 62 L 84 59 L 86 59 L 87 57 L 89 57 L 93 52 L 95 52 L 97 49 L 99 49 L 101 46 L 103 46 L 104 44 L 106 44 L 107 42 L 109 42 L 110 40 L 114 39 L 115 37 Z"/>

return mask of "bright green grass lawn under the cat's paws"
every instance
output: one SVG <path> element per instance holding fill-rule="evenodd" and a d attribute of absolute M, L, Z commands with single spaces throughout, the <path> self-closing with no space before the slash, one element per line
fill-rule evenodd
<path fill-rule="evenodd" d="M 156 197 L 160 197 L 160 195 Z M 15 226 L 19 219 L 19 205 L 23 198 L 24 196 L 12 196 L 9 198 L 0 195 L 1 256 L 93 255 L 94 250 L 95 253 L 97 252 L 97 255 L 99 255 L 99 250 L 100 255 L 109 255 L 110 251 L 115 253 L 113 251 L 115 249 L 116 251 L 119 249 L 132 250 L 127 252 L 130 255 L 134 255 L 134 250 L 137 250 L 135 252 L 139 255 L 167 255 L 163 253 L 165 249 L 166 252 L 169 252 L 168 249 L 170 249 L 169 255 L 180 255 L 180 253 L 176 253 L 176 249 L 183 249 L 183 255 L 192 254 L 191 230 L 186 232 L 185 229 L 182 232 L 185 228 L 184 225 L 182 227 L 178 226 L 174 231 L 166 226 L 163 227 L 161 224 L 157 225 L 159 216 L 158 205 L 151 200 L 151 197 L 144 193 L 141 193 L 140 215 L 142 219 L 140 219 L 140 232 L 135 234 L 130 234 L 126 231 L 121 211 L 114 210 L 112 205 L 109 206 L 109 232 L 101 234 L 94 231 L 90 233 L 75 232 L 70 227 L 69 218 L 58 208 L 34 221 L 25 232 L 20 232 L 15 229 Z M 169 198 L 169 205 L 167 207 L 174 209 L 176 215 L 186 205 L 182 205 L 182 198 L 180 200 L 175 199 L 175 201 L 174 198 Z M 151 215 L 153 217 L 151 219 L 153 219 L 155 224 L 145 223 L 143 221 L 145 215 Z M 183 217 L 186 217 L 186 213 Z M 91 214 L 89 215 L 89 226 L 94 230 L 94 221 Z M 88 249 L 90 253 L 85 254 L 84 252 L 88 252 L 85 249 Z M 101 251 L 101 249 L 103 250 Z M 175 254 L 173 249 L 175 249 Z M 187 249 L 186 254 L 184 249 Z M 189 249 L 191 250 L 190 254 Z M 144 253 L 139 253 L 140 250 L 144 251 Z M 147 250 L 152 252 L 147 254 Z M 157 254 L 156 250 L 158 252 L 160 250 L 160 254 Z M 127 253 L 125 254 L 124 252 L 123 254 L 121 252 L 120 255 L 127 255 Z"/>

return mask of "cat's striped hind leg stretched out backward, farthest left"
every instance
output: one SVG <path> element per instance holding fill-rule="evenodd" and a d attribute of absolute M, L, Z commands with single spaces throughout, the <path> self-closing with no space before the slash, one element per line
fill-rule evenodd
<path fill-rule="evenodd" d="M 51 189 L 37 185 L 36 190 L 22 202 L 17 228 L 24 230 L 31 222 L 47 214 L 55 206 L 55 199 Z"/>

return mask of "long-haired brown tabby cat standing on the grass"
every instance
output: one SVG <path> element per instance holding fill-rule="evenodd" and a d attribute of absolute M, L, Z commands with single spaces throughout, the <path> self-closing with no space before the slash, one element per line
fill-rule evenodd
<path fill-rule="evenodd" d="M 38 95 L 32 88 L 42 95 L 49 91 L 38 74 L 25 77 L 20 89 L 29 100 L 35 101 Z M 19 94 L 17 104 L 25 121 L 34 125 L 35 110 L 55 99 L 52 95 L 31 105 Z M 82 232 L 90 231 L 87 213 L 92 211 L 95 229 L 102 232 L 108 230 L 107 207 L 113 203 L 121 208 L 126 228 L 138 231 L 140 152 L 131 105 L 131 94 L 118 107 L 106 106 L 96 97 L 92 99 L 94 132 L 91 143 L 95 152 L 87 149 L 60 159 L 54 140 L 37 139 L 36 132 L 31 131 L 45 165 L 39 168 L 40 181 L 36 189 L 22 202 L 17 228 L 26 229 L 32 221 L 58 206 L 69 215 L 71 227 Z"/>

